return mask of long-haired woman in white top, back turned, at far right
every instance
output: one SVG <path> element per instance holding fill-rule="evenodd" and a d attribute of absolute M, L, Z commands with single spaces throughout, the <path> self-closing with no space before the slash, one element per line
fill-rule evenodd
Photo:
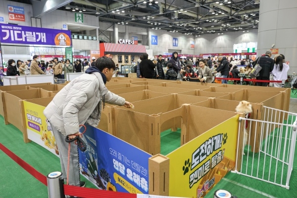
<path fill-rule="evenodd" d="M 283 57 L 278 55 L 275 57 L 275 65 L 271 72 L 273 80 L 282 81 L 288 79 L 288 71 L 290 67 L 286 63 L 283 63 Z M 282 87 L 282 83 L 273 83 L 273 87 Z"/>

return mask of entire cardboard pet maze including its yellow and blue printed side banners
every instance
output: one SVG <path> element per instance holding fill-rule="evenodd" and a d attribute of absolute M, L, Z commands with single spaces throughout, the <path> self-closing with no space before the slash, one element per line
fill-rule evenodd
<path fill-rule="evenodd" d="M 5 124 L 22 131 L 25 143 L 36 142 L 56 156 L 43 110 L 65 85 L 0 87 Z M 240 171 L 239 159 L 248 149 L 243 148 L 245 128 L 240 121 L 245 114 L 235 112 L 241 100 L 250 102 L 251 119 L 263 121 L 268 116 L 264 106 L 288 111 L 291 92 L 137 78 L 113 78 L 106 87 L 135 108 L 105 104 L 99 126 L 87 125 L 81 174 L 103 190 L 176 197 L 204 197 L 229 171 Z M 258 153 L 261 141 L 255 137 L 261 127 L 251 122 L 249 128 L 249 139 L 257 141 L 249 141 L 248 147 Z"/>

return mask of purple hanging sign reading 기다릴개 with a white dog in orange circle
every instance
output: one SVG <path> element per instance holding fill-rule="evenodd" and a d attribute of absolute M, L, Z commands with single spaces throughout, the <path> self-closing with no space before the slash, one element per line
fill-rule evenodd
<path fill-rule="evenodd" d="M 0 25 L 1 43 L 71 46 L 71 31 L 11 24 Z"/>

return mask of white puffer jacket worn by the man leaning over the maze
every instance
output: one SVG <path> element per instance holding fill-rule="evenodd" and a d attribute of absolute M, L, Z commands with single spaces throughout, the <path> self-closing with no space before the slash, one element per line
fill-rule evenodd
<path fill-rule="evenodd" d="M 125 99 L 107 90 L 99 72 L 83 74 L 57 93 L 44 114 L 61 134 L 72 135 L 78 132 L 81 124 L 98 126 L 103 96 L 109 104 L 125 103 Z"/>

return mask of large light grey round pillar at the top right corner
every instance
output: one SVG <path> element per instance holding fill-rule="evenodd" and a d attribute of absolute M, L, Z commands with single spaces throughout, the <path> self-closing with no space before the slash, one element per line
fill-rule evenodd
<path fill-rule="evenodd" d="M 275 45 L 290 61 L 289 73 L 297 72 L 297 23 L 293 20 L 296 18 L 297 0 L 260 1 L 257 54 Z"/>

